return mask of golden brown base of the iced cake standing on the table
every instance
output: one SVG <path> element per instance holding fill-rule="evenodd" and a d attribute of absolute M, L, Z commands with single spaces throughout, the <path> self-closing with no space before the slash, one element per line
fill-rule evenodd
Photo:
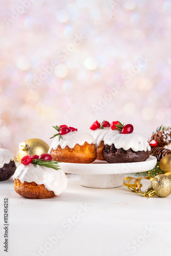
<path fill-rule="evenodd" d="M 53 191 L 49 191 L 43 184 L 38 185 L 35 182 L 20 182 L 15 180 L 14 189 L 16 193 L 22 197 L 38 199 L 56 197 Z"/>

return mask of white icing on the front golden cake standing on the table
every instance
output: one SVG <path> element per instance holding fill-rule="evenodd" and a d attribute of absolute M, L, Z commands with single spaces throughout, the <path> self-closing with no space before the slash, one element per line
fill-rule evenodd
<path fill-rule="evenodd" d="M 38 185 L 44 184 L 45 188 L 53 191 L 56 196 L 60 195 L 67 188 L 68 179 L 63 170 L 47 168 L 32 163 L 28 165 L 20 164 L 14 173 L 13 180 L 20 182 L 35 182 Z"/>

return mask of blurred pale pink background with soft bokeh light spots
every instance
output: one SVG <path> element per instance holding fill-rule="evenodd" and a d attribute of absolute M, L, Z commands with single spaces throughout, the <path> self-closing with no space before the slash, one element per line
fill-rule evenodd
<path fill-rule="evenodd" d="M 1 147 L 52 125 L 170 125 L 171 1 L 1 2 Z"/>

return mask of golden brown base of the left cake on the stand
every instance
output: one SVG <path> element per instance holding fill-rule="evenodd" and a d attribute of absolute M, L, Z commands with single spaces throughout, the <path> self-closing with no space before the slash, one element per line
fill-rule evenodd
<path fill-rule="evenodd" d="M 84 142 L 82 146 L 76 144 L 73 148 L 66 146 L 61 148 L 58 145 L 57 150 L 52 150 L 51 156 L 54 161 L 66 163 L 92 163 L 96 157 L 96 146 Z"/>

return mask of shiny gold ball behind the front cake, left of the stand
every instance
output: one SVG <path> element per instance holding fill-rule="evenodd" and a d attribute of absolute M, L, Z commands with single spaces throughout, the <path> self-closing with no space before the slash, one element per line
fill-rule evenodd
<path fill-rule="evenodd" d="M 49 145 L 40 139 L 29 139 L 25 142 L 19 143 L 19 150 L 17 152 L 17 156 L 15 161 L 21 163 L 21 160 L 24 156 L 30 155 L 38 155 L 48 153 Z"/>

